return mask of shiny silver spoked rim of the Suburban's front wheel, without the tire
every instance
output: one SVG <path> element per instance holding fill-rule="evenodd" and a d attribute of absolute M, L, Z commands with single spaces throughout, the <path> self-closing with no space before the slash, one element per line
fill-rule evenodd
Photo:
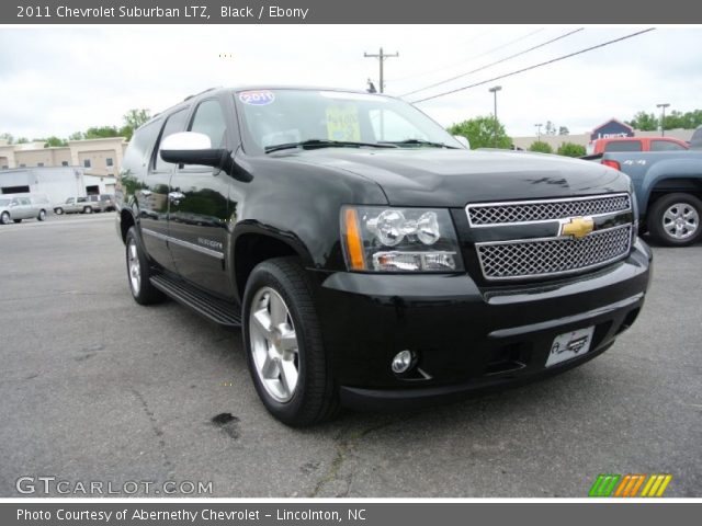
<path fill-rule="evenodd" d="M 287 402 L 299 378 L 299 353 L 295 325 L 283 298 L 271 287 L 259 289 L 249 317 L 251 355 L 265 391 Z"/>

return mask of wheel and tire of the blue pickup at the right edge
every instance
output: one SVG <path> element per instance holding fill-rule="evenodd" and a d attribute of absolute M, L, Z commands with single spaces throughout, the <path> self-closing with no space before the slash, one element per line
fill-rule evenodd
<path fill-rule="evenodd" d="M 700 239 L 702 201 L 694 195 L 667 194 L 656 201 L 648 213 L 652 237 L 668 247 L 688 247 Z"/>

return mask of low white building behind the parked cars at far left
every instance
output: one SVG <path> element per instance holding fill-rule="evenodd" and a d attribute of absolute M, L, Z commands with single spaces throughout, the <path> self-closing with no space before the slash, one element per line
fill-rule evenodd
<path fill-rule="evenodd" d="M 115 178 L 89 175 L 82 167 L 18 168 L 0 170 L 0 194 L 45 194 L 52 204 L 68 197 L 114 194 Z"/>

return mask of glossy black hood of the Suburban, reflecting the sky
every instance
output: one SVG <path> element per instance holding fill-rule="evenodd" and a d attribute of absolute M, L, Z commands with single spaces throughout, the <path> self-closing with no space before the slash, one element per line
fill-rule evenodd
<path fill-rule="evenodd" d="M 626 175 L 597 162 L 507 150 L 320 148 L 281 157 L 374 181 L 395 206 L 463 207 L 630 190 Z"/>

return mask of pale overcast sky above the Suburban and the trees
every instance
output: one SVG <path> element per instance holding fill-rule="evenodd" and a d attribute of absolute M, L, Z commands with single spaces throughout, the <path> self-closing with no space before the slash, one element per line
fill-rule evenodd
<path fill-rule="evenodd" d="M 133 107 L 157 113 L 214 85 L 316 84 L 365 89 L 386 61 L 386 92 L 400 95 L 482 68 L 578 26 L 211 25 L 0 27 L 0 133 L 66 137 L 121 125 Z M 431 94 L 624 36 L 644 26 L 591 27 L 500 65 L 409 95 Z M 220 57 L 220 55 L 223 55 Z M 377 83 L 377 82 L 376 82 Z M 420 103 L 442 125 L 492 112 L 511 136 L 552 121 L 570 133 L 602 122 L 702 107 L 702 27 L 664 27 L 533 71 Z"/>

